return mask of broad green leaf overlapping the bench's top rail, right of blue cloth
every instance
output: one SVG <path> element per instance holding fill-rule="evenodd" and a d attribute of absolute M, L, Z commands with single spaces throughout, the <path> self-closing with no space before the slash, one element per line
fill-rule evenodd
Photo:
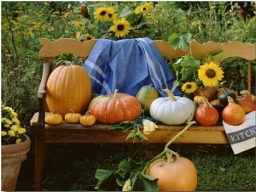
<path fill-rule="evenodd" d="M 169 38 L 168 42 L 172 45 L 172 48 L 175 50 L 177 48 L 182 49 L 183 51 L 187 50 L 190 45 L 190 38 L 192 35 L 190 33 L 183 34 L 181 36 L 178 36 L 177 33 L 173 33 Z"/>

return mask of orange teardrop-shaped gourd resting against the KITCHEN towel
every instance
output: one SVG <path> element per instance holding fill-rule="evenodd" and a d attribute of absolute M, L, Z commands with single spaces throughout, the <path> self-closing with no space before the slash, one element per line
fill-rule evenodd
<path fill-rule="evenodd" d="M 245 111 L 228 96 L 229 104 L 222 111 L 223 120 L 230 125 L 240 125 L 245 120 Z"/>

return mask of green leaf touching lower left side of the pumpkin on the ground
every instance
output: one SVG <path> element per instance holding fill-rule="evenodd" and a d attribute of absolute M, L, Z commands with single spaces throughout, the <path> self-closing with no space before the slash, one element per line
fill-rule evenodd
<path fill-rule="evenodd" d="M 131 189 L 133 191 L 158 191 L 157 181 L 158 178 L 137 172 L 137 175 L 131 178 Z"/>

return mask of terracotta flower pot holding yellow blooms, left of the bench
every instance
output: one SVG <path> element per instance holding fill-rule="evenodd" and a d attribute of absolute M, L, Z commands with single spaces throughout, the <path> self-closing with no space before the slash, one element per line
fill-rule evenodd
<path fill-rule="evenodd" d="M 2 191 L 15 190 L 21 162 L 26 160 L 30 146 L 31 140 L 27 136 L 26 141 L 20 144 L 2 145 Z"/>

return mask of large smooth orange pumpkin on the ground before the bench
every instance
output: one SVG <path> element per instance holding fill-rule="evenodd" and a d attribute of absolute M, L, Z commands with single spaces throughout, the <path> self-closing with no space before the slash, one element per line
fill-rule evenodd
<path fill-rule="evenodd" d="M 173 162 L 167 159 L 153 161 L 146 171 L 147 175 L 158 178 L 159 190 L 193 191 L 197 185 L 197 173 L 192 161 L 185 157 L 174 157 Z"/>

